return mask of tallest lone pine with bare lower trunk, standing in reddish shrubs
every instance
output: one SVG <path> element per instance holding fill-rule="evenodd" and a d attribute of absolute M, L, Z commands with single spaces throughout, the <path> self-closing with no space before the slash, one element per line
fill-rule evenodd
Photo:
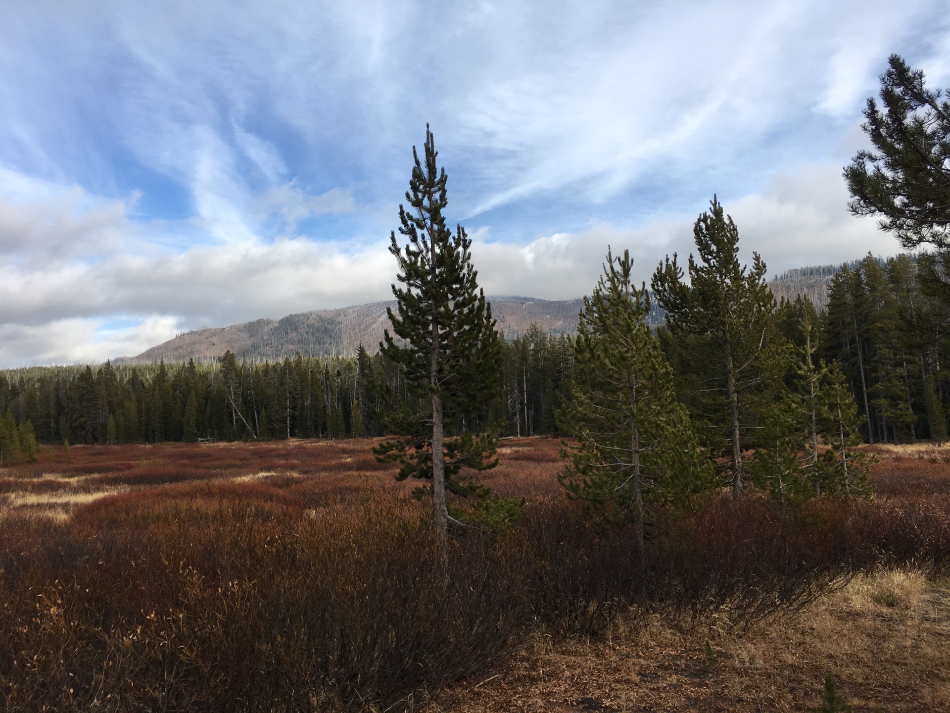
<path fill-rule="evenodd" d="M 458 225 L 453 232 L 446 226 L 447 176 L 436 164 L 428 125 L 424 157 L 420 160 L 414 146 L 412 157 L 409 210 L 399 206 L 399 233 L 408 242 L 400 247 L 393 231 L 390 244 L 403 286 L 392 285 L 398 314 L 388 310 L 393 335 L 387 330 L 379 345 L 383 357 L 401 370 L 408 397 L 390 389 L 378 418 L 388 433 L 402 437 L 374 451 L 382 461 L 402 464 L 398 480 L 431 480 L 435 526 L 446 537 L 447 489 L 473 491 L 455 475 L 498 462 L 497 439 L 472 431 L 499 388 L 502 340 L 478 287 L 465 228 Z"/>

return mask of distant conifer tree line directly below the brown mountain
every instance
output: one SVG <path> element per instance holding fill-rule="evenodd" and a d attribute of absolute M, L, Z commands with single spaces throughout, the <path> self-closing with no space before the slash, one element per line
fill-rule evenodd
<path fill-rule="evenodd" d="M 572 369 L 573 338 L 532 327 L 504 344 L 499 395 L 482 420 L 501 424 L 502 435 L 557 434 Z M 366 349 L 353 358 L 229 353 L 218 363 L 11 369 L 0 372 L 0 453 L 28 430 L 42 444 L 382 435 L 371 379 L 401 384 L 398 370 Z"/>

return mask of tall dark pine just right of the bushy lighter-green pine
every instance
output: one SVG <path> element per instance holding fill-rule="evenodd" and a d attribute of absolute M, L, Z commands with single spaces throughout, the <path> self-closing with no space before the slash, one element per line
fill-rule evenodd
<path fill-rule="evenodd" d="M 674 337 L 682 333 L 712 341 L 716 387 L 724 396 L 732 490 L 741 492 L 745 401 L 764 380 L 760 356 L 774 329 L 775 298 L 758 253 L 752 253 L 751 269 L 739 264 L 738 229 L 714 197 L 711 210 L 695 222 L 693 238 L 699 261 L 690 255 L 690 281 L 683 280 L 674 254 L 673 260 L 667 257 L 656 268 L 653 289 Z M 711 415 L 718 421 L 719 414 Z"/>

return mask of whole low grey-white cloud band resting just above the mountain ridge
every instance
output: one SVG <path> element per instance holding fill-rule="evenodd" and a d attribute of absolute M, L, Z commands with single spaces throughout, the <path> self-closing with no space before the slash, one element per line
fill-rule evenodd
<path fill-rule="evenodd" d="M 847 213 L 839 173 L 835 165 L 806 164 L 776 174 L 761 194 L 725 200 L 739 227 L 743 259 L 758 250 L 772 274 L 860 258 L 868 250 L 897 252 L 895 241 L 873 221 Z M 486 241 L 487 231 L 478 231 L 473 261 L 488 294 L 575 298 L 596 283 L 608 244 L 615 254 L 629 249 L 636 278 L 647 282 L 664 255 L 676 251 L 685 259 L 693 248 L 697 213 L 637 229 L 604 224 L 525 245 Z M 135 255 L 29 268 L 8 261 L 7 279 L 0 284 L 0 362 L 128 356 L 179 329 L 390 299 L 395 262 L 387 248 L 383 241 L 352 249 L 345 242 L 301 238 L 181 253 L 153 245 Z M 140 321 L 105 334 L 103 324 L 116 315 Z"/>

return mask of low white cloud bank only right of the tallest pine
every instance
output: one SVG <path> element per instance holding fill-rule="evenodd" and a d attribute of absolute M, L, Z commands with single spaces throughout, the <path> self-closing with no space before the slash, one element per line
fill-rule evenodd
<path fill-rule="evenodd" d="M 834 164 L 804 164 L 774 175 L 763 193 L 720 201 L 738 226 L 741 259 L 750 262 L 757 251 L 769 266 L 769 278 L 792 267 L 855 260 L 868 251 L 883 256 L 899 252 L 897 242 L 873 220 L 848 213 L 841 168 Z M 615 255 L 629 249 L 635 279 L 649 284 L 666 255 L 677 252 L 685 268 L 694 252 L 693 222 L 706 207 L 642 228 L 599 225 L 523 246 L 479 241 L 475 234 L 473 260 L 486 292 L 569 299 L 589 294 L 610 245 Z"/>

